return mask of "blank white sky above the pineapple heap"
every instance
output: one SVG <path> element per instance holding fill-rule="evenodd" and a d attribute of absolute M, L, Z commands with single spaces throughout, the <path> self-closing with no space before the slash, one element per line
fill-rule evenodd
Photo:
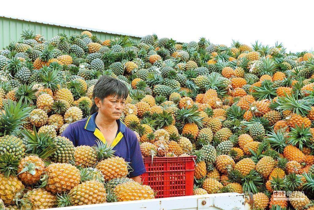
<path fill-rule="evenodd" d="M 230 46 L 283 43 L 287 52 L 314 50 L 314 1 L 6 1 L 0 14 L 145 36 L 156 34 L 178 42 L 198 41 Z"/>

